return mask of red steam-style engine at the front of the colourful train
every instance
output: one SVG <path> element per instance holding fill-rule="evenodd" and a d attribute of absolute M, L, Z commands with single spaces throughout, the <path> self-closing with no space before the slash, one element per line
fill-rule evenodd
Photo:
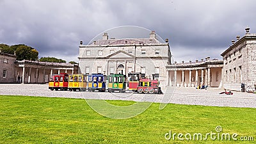
<path fill-rule="evenodd" d="M 129 90 L 138 93 L 162 93 L 158 80 L 141 77 L 141 73 L 128 74 Z"/>

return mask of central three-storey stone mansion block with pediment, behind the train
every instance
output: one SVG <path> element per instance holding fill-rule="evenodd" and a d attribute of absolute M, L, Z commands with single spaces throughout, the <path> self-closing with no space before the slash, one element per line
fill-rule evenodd
<path fill-rule="evenodd" d="M 79 71 L 83 74 L 124 74 L 141 72 L 145 77 L 159 79 L 166 86 L 168 72 L 166 66 L 171 63 L 168 44 L 161 43 L 151 31 L 148 38 L 108 38 L 104 33 L 102 40 L 92 44 L 79 45 Z"/>

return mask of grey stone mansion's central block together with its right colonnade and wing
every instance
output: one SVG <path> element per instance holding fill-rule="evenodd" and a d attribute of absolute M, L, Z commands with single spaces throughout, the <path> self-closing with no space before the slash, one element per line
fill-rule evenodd
<path fill-rule="evenodd" d="M 141 72 L 145 77 L 159 79 L 161 86 L 209 87 L 241 90 L 241 83 L 256 86 L 256 34 L 246 34 L 221 56 L 223 60 L 207 57 L 201 61 L 171 63 L 168 39 L 161 43 L 152 31 L 149 38 L 108 38 L 92 44 L 79 45 L 79 73 L 129 74 Z"/>

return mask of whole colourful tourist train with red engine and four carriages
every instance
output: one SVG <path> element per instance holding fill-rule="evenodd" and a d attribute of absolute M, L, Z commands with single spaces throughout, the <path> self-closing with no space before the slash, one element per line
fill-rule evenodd
<path fill-rule="evenodd" d="M 142 77 L 141 73 L 123 74 L 53 74 L 49 81 L 50 90 L 69 90 L 89 92 L 120 92 L 127 90 L 138 93 L 162 93 L 159 81 Z"/>

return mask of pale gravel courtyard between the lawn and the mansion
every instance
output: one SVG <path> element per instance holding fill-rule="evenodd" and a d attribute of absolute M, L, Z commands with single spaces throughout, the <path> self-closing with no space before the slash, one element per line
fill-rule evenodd
<path fill-rule="evenodd" d="M 165 88 L 162 88 L 165 89 Z M 236 108 L 256 108 L 256 94 L 233 92 L 233 95 L 220 95 L 221 89 L 209 88 L 171 88 L 163 90 L 164 94 L 139 94 L 132 92 L 69 92 L 51 91 L 48 84 L 0 84 L 0 95 L 28 95 L 40 97 L 67 97 L 76 99 L 133 100 L 173 104 L 202 106 L 228 106 Z"/>

